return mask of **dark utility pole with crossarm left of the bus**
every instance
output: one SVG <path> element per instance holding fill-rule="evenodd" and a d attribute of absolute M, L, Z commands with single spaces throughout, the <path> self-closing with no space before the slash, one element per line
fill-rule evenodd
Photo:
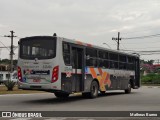
<path fill-rule="evenodd" d="M 14 52 L 13 52 L 13 37 L 17 37 L 17 36 L 14 36 L 14 31 L 10 31 L 11 32 L 11 35 L 5 35 L 4 37 L 10 37 L 11 38 L 11 50 L 10 50 L 10 60 L 11 60 L 11 63 L 10 63 L 10 72 L 12 73 L 13 72 L 13 55 L 14 55 Z"/>

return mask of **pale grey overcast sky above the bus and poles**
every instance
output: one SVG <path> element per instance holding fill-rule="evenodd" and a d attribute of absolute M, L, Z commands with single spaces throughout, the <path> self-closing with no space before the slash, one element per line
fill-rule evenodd
<path fill-rule="evenodd" d="M 160 0 L 0 0 L 0 47 L 10 46 L 10 31 L 19 38 L 53 35 L 81 40 L 116 49 L 112 37 L 137 37 L 160 34 Z M 3 44 L 4 45 L 3 45 Z M 160 36 L 122 39 L 120 49 L 160 50 Z M 17 58 L 17 49 L 14 58 Z M 9 58 L 0 49 L 0 58 Z M 160 59 L 160 55 L 142 55 Z"/>

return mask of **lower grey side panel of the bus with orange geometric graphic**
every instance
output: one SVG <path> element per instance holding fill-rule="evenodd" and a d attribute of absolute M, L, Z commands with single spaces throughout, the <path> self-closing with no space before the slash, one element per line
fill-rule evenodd
<path fill-rule="evenodd" d="M 98 80 L 100 91 L 126 89 L 130 76 L 134 76 L 135 74 L 135 72 L 127 70 L 111 70 L 89 67 L 86 67 L 85 70 L 85 91 L 88 91 L 88 86 L 91 84 L 93 79 Z"/>

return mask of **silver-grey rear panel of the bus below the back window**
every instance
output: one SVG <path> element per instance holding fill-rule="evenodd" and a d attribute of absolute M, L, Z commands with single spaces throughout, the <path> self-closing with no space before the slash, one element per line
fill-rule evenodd
<path fill-rule="evenodd" d="M 57 40 L 58 42 L 58 40 Z M 56 52 L 60 49 L 59 43 L 56 45 Z M 20 52 L 20 49 L 19 49 Z M 18 59 L 18 67 L 21 69 L 22 81 L 18 81 L 20 89 L 37 90 L 61 90 L 61 66 L 59 63 L 59 54 L 52 59 L 25 60 Z M 58 80 L 52 83 L 53 69 L 58 66 Z"/>

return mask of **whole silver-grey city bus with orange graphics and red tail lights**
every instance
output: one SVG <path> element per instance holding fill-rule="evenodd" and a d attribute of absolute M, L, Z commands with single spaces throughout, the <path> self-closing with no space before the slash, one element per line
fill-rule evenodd
<path fill-rule="evenodd" d="M 19 41 L 20 89 L 52 92 L 56 97 L 140 87 L 139 57 L 57 36 L 33 36 Z"/>

